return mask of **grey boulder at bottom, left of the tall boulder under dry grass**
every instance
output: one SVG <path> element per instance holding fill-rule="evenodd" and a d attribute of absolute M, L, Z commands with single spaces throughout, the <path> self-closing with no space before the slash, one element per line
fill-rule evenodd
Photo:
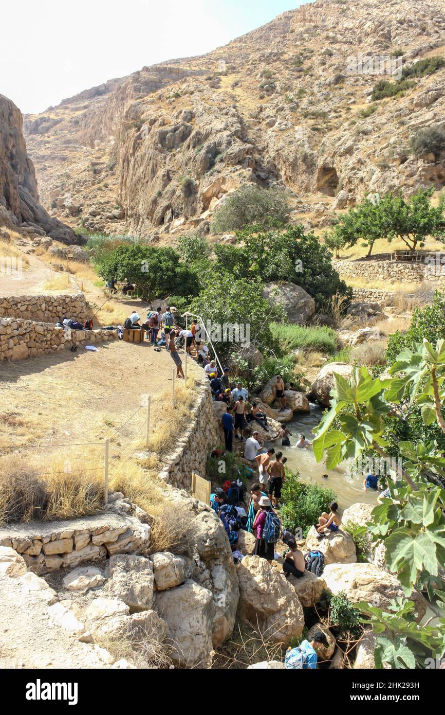
<path fill-rule="evenodd" d="M 215 616 L 211 591 L 188 580 L 182 586 L 156 593 L 155 608 L 174 641 L 171 654 L 174 664 L 183 668 L 209 668 Z"/>

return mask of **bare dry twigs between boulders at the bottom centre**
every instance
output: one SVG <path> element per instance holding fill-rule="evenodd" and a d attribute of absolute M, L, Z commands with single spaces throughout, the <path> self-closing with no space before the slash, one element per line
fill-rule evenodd
<path fill-rule="evenodd" d="M 216 669 L 244 669 L 261 661 L 282 661 L 284 646 L 271 641 L 259 624 L 246 626 L 236 623 L 229 641 L 216 652 Z"/>

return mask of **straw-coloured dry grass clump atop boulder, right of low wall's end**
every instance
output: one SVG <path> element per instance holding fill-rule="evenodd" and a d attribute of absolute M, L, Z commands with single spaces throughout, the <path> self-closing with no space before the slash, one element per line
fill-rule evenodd
<path fill-rule="evenodd" d="M 164 504 L 150 531 L 150 551 L 191 552 L 191 513 L 178 503 Z"/>

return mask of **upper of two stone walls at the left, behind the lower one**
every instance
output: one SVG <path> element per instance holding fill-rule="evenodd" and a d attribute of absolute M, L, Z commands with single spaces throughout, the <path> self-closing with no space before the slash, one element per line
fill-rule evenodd
<path fill-rule="evenodd" d="M 64 317 L 85 322 L 88 309 L 83 293 L 74 295 L 14 295 L 0 297 L 0 317 L 36 322 L 58 322 Z"/>

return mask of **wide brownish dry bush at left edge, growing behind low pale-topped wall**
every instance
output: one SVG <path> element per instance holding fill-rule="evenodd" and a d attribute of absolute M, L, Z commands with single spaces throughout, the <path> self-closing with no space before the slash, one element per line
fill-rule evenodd
<path fill-rule="evenodd" d="M 0 521 L 51 521 L 88 516 L 104 503 L 103 475 L 64 472 L 59 463 L 29 466 L 16 455 L 0 459 Z"/>

